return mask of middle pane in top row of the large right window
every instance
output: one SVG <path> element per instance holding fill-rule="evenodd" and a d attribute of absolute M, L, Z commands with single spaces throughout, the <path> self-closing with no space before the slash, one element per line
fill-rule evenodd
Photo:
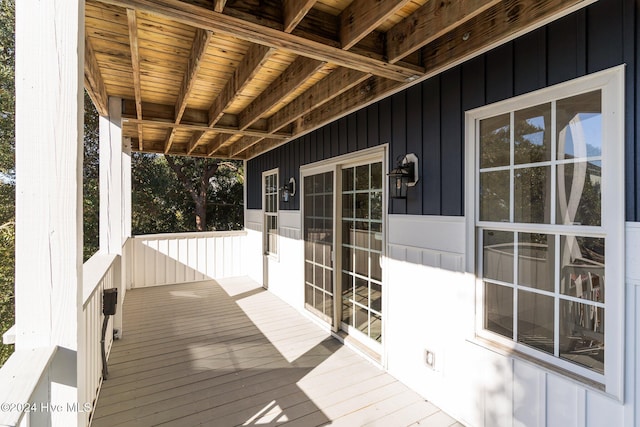
<path fill-rule="evenodd" d="M 551 160 L 551 104 L 516 111 L 514 139 L 516 164 Z"/>

